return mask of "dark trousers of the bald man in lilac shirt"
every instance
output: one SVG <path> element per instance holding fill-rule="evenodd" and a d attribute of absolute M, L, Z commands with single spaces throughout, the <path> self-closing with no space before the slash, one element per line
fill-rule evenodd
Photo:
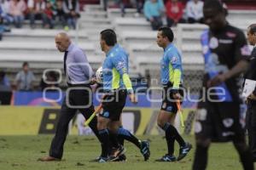
<path fill-rule="evenodd" d="M 71 121 L 73 116 L 75 116 L 76 111 L 80 111 L 85 119 L 88 119 L 90 115 L 95 111 L 94 106 L 92 105 L 92 92 L 91 89 L 89 90 L 71 90 L 68 95 L 65 96 L 65 99 L 63 100 L 63 103 L 61 105 L 61 116 L 59 119 L 59 122 L 57 124 L 55 137 L 51 142 L 50 150 L 49 150 L 49 156 L 53 156 L 55 158 L 61 159 L 63 155 L 63 145 L 65 143 L 66 137 L 67 137 L 67 131 L 68 131 L 68 123 Z M 68 96 L 68 100 L 67 100 Z M 89 102 L 91 102 L 90 106 L 88 107 L 79 107 L 72 108 L 67 105 L 67 102 L 73 106 L 77 105 L 88 105 Z M 94 119 L 90 122 L 90 128 L 92 131 L 96 134 L 96 137 L 98 137 L 98 131 L 97 131 L 97 120 L 96 116 Z"/>

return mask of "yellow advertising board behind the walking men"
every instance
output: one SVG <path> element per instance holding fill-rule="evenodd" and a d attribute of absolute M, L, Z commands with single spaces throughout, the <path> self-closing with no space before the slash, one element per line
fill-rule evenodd
<path fill-rule="evenodd" d="M 42 106 L 0 106 L 0 135 L 55 133 L 60 109 Z M 122 114 L 123 125 L 137 135 L 159 134 L 161 130 L 156 124 L 158 111 L 152 108 L 126 107 Z M 75 116 L 71 122 L 71 134 L 79 134 L 78 117 Z M 180 128 L 180 132 L 191 133 L 194 111 L 184 110 L 183 118 L 185 127 Z"/>

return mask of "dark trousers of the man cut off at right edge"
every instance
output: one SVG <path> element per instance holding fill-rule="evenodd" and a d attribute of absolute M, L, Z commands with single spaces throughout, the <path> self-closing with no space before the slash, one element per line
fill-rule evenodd
<path fill-rule="evenodd" d="M 256 161 L 256 101 L 248 99 L 246 125 L 248 131 L 248 141 L 253 161 Z"/>

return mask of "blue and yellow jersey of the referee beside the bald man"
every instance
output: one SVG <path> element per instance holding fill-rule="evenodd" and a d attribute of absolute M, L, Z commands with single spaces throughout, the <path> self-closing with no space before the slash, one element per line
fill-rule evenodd
<path fill-rule="evenodd" d="M 118 88 L 131 88 L 125 86 L 123 75 L 128 74 L 128 54 L 125 49 L 116 44 L 111 48 L 103 62 L 103 89 L 111 91 Z"/>

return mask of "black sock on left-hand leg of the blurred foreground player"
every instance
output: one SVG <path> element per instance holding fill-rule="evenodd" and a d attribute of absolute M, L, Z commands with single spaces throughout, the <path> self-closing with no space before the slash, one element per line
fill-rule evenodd
<path fill-rule="evenodd" d="M 205 170 L 207 168 L 208 148 L 208 146 L 196 144 L 193 170 Z"/>

